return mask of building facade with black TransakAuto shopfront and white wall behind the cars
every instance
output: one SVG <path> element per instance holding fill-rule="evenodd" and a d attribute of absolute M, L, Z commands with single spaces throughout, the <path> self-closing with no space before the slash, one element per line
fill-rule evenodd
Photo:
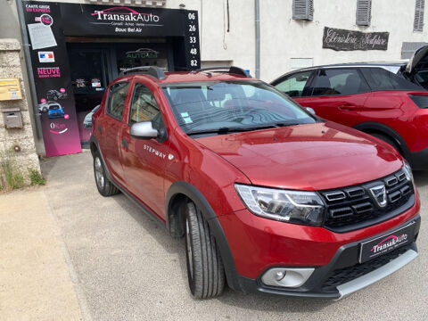
<path fill-rule="evenodd" d="M 424 0 L 4 2 L 0 38 L 21 44 L 21 74 L 2 77 L 20 78 L 24 99 L 17 105 L 35 140 L 25 145 L 48 156 L 85 147 L 85 115 L 120 70 L 140 64 L 236 65 L 271 81 L 319 64 L 408 59 L 428 43 Z M 1 135 L 6 147 L 29 140 Z"/>

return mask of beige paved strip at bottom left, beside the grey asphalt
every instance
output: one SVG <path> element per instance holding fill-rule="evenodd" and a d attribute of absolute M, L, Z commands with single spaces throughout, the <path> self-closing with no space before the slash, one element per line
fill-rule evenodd
<path fill-rule="evenodd" d="M 71 271 L 44 190 L 0 195 L 0 320 L 81 320 Z"/>

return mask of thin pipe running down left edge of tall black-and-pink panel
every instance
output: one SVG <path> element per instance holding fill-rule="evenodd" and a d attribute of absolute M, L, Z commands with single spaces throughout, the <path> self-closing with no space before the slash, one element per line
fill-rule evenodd
<path fill-rule="evenodd" d="M 40 121 L 40 111 L 38 111 L 37 106 L 37 95 L 36 95 L 36 86 L 34 85 L 34 76 L 33 76 L 33 67 L 30 58 L 29 51 L 29 36 L 27 35 L 27 28 L 25 26 L 24 20 L 24 9 L 22 5 L 22 0 L 16 0 L 16 6 L 18 11 L 18 18 L 20 19 L 20 27 L 21 27 L 21 37 L 22 37 L 22 49 L 24 51 L 25 64 L 27 65 L 27 73 L 29 75 L 29 92 L 31 95 L 31 99 L 28 99 L 28 103 L 33 103 L 33 113 L 36 121 L 36 133 L 37 138 L 42 138 L 42 123 Z"/>

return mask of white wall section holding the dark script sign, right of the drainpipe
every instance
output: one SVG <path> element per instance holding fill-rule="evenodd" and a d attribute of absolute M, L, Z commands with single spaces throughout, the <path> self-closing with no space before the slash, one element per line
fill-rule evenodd
<path fill-rule="evenodd" d="M 403 41 L 427 41 L 413 32 L 416 0 L 373 0 L 370 27 L 356 25 L 357 0 L 314 0 L 314 21 L 293 21 L 292 0 L 261 1 L 261 78 L 272 80 L 278 70 L 290 70 L 290 58 L 314 58 L 314 64 L 399 61 Z M 275 6 L 275 8 L 273 8 Z M 427 17 L 425 12 L 425 21 Z M 322 48 L 324 27 L 389 31 L 387 51 L 336 52 Z"/>

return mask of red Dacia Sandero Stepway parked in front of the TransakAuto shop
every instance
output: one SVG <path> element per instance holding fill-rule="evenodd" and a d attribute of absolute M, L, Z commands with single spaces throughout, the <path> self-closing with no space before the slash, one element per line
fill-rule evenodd
<path fill-rule="evenodd" d="M 93 116 L 95 182 L 185 237 L 196 298 L 340 299 L 417 257 L 420 201 L 389 144 L 244 70 L 127 70 Z"/>

